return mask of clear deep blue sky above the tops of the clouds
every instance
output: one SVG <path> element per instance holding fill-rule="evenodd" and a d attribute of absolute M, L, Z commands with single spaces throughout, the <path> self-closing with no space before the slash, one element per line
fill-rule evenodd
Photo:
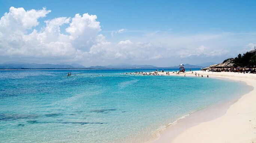
<path fill-rule="evenodd" d="M 131 30 L 173 32 L 255 31 L 256 1 L 206 0 L 1 0 L 1 14 L 9 8 L 52 10 L 46 19 L 72 17 L 76 13 L 97 15 L 103 31 Z"/>

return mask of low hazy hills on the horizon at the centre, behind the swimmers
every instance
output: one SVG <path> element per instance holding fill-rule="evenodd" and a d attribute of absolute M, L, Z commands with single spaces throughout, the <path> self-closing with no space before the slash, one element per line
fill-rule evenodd
<path fill-rule="evenodd" d="M 91 66 L 88 67 L 90 69 L 118 69 L 118 68 L 156 68 L 156 66 L 152 65 L 129 65 L 129 64 L 124 64 L 124 65 L 117 65 L 117 66 Z"/>

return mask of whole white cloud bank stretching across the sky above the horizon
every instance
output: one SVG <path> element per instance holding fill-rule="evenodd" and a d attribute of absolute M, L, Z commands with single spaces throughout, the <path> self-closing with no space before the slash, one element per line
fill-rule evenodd
<path fill-rule="evenodd" d="M 232 43 L 232 41 L 241 36 L 232 33 L 177 36 L 149 32 L 113 43 L 100 33 L 101 26 L 97 16 L 88 13 L 76 14 L 72 18 L 48 19 L 44 21 L 43 28 L 36 30 L 39 19 L 46 18 L 50 12 L 51 10 L 46 8 L 26 11 L 22 7 L 10 7 L 9 12 L 4 13 L 0 19 L 0 56 L 13 61 L 24 59 L 32 62 L 40 60 L 41 63 L 46 60 L 52 63 L 69 61 L 86 66 L 118 62 L 135 64 L 153 62 L 154 64 L 156 60 L 170 60 L 164 63 L 168 66 L 171 61 L 177 62 L 182 58 L 197 57 L 200 61 L 205 57 L 230 54 L 232 49 L 228 45 L 226 45 L 228 48 L 223 47 L 223 43 L 234 45 L 236 42 Z M 68 25 L 65 32 L 61 32 L 63 25 Z M 112 31 L 111 35 L 115 37 L 125 31 L 128 29 Z M 222 45 L 216 44 L 216 41 L 220 41 Z M 250 39 L 247 41 L 243 48 L 254 48 L 255 44 Z"/>

